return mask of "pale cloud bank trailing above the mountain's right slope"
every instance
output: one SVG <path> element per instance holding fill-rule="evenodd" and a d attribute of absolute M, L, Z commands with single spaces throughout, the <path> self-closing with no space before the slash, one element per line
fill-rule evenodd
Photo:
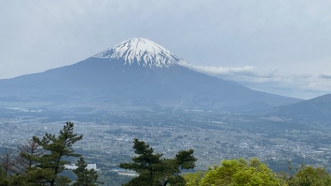
<path fill-rule="evenodd" d="M 224 68 L 214 66 L 199 66 L 186 64 L 185 66 L 217 76 L 221 79 L 237 81 L 254 90 L 292 96 L 300 99 L 312 99 L 331 90 L 331 74 L 281 74 L 277 70 L 260 70 L 254 66 L 241 68 Z"/>

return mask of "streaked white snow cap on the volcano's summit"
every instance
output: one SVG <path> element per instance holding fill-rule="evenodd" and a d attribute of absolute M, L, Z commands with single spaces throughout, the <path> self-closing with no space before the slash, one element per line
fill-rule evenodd
<path fill-rule="evenodd" d="M 172 52 L 166 50 L 161 45 L 142 38 L 132 38 L 123 41 L 93 57 L 121 59 L 124 61 L 124 64 L 132 65 L 137 63 L 138 65 L 149 68 L 168 68 L 179 62 L 183 63 L 182 59 L 172 54 Z"/>

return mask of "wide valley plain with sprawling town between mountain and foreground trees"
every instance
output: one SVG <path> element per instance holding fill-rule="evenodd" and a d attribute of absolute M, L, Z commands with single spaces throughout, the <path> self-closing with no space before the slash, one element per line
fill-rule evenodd
<path fill-rule="evenodd" d="M 0 116 L 0 146 L 16 148 L 32 136 L 58 134 L 66 121 L 83 134 L 75 151 L 97 169 L 118 171 L 117 165 L 134 156 L 134 138 L 146 141 L 155 152 L 172 157 L 194 149 L 196 169 L 219 165 L 223 159 L 253 158 L 275 171 L 289 163 L 330 167 L 330 128 L 323 123 L 291 123 L 277 117 L 250 116 L 208 110 L 93 109 L 36 110 L 7 108 Z M 315 126 L 315 127 L 314 127 Z"/>

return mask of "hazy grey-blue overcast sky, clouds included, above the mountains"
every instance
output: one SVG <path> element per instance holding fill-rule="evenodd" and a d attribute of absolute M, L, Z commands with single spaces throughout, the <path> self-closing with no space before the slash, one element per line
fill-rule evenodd
<path fill-rule="evenodd" d="M 331 93 L 331 1 L 0 1 L 0 79 L 82 61 L 132 37 L 255 90 Z"/>

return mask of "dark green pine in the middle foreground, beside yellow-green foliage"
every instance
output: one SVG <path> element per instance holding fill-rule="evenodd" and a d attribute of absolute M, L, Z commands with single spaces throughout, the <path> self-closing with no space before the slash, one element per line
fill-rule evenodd
<path fill-rule="evenodd" d="M 185 185 L 179 174 L 180 169 L 194 168 L 197 158 L 193 149 L 179 152 L 175 158 L 161 158 L 163 154 L 154 154 L 154 149 L 144 141 L 134 139 L 134 152 L 139 156 L 132 158 L 133 163 L 121 163 L 119 167 L 134 170 L 139 174 L 124 185 Z"/>

